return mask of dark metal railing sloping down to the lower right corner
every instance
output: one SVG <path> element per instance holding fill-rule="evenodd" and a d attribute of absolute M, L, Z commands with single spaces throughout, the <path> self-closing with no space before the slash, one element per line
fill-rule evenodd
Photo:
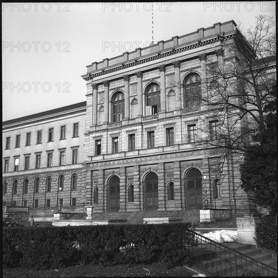
<path fill-rule="evenodd" d="M 277 276 L 277 269 L 267 264 L 194 231 L 190 233 L 193 235 L 194 242 L 197 241 L 192 251 L 198 267 L 214 276 Z M 244 250 L 244 247 L 239 250 Z"/>

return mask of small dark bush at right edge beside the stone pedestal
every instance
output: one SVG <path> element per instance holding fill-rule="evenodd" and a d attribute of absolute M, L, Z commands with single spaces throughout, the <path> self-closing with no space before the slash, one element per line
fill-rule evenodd
<path fill-rule="evenodd" d="M 265 215 L 256 225 L 256 238 L 260 247 L 277 252 L 277 224 L 274 216 Z"/>

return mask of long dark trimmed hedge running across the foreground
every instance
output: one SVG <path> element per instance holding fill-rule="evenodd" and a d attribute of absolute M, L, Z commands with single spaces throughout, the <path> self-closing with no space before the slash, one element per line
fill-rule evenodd
<path fill-rule="evenodd" d="M 190 223 L 13 227 L 3 229 L 4 267 L 59 268 L 92 264 L 189 264 Z"/>

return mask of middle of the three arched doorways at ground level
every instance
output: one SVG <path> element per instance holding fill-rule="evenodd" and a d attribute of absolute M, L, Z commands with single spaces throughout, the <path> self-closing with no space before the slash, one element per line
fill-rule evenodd
<path fill-rule="evenodd" d="M 158 209 L 158 177 L 155 173 L 150 173 L 145 178 L 145 210 Z"/>

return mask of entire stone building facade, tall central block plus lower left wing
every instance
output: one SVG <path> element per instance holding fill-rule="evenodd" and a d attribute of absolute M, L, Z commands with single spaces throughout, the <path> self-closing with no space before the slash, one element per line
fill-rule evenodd
<path fill-rule="evenodd" d="M 86 102 L 4 122 L 3 205 L 30 206 L 37 215 L 61 207 L 128 215 L 204 205 L 255 212 L 236 158 L 220 170 L 221 157 L 193 146 L 205 135 L 209 107 L 190 91 L 207 94 L 208 64 L 236 61 L 227 51 L 236 36 L 233 21 L 216 23 L 94 62 L 82 76 Z M 217 120 L 216 113 L 212 130 Z"/>

